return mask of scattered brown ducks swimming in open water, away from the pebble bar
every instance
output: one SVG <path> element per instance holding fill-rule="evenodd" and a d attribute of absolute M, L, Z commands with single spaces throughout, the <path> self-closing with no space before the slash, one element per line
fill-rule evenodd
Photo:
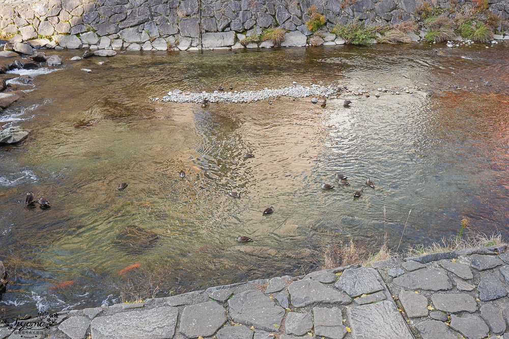
<path fill-rule="evenodd" d="M 252 153 L 244 153 L 244 158 L 254 158 L 254 154 L 252 154 Z M 185 178 L 186 172 L 181 170 L 179 172 L 179 176 L 181 178 Z M 340 174 L 340 173 L 336 173 L 335 179 L 337 180 L 339 185 L 343 185 L 343 186 L 349 186 L 350 185 L 349 182 L 347 181 L 348 177 L 346 175 L 343 175 L 343 174 Z M 375 188 L 375 184 L 373 183 L 373 181 L 371 181 L 370 178 L 367 178 L 366 184 L 367 184 L 367 186 L 369 186 L 369 187 L 371 187 L 373 189 Z M 128 182 L 122 182 L 121 184 L 119 184 L 118 189 L 119 190 L 123 190 L 128 185 L 129 185 Z M 321 187 L 322 187 L 322 190 L 332 190 L 335 186 L 329 185 L 329 184 L 322 184 Z M 356 191 L 353 194 L 354 199 L 359 198 L 362 195 L 362 192 L 364 192 L 364 189 L 361 189 L 360 191 Z M 234 198 L 240 198 L 240 193 L 239 192 L 228 192 L 228 194 L 231 195 Z M 41 208 L 49 208 L 49 207 L 51 207 L 51 205 L 50 205 L 50 203 L 49 203 L 49 201 L 47 199 L 45 199 L 43 197 L 40 197 L 39 199 L 34 200 L 34 193 L 32 193 L 32 192 L 26 193 L 26 196 L 25 196 L 25 206 L 26 205 L 34 204 L 35 202 L 39 203 Z M 274 207 L 273 206 L 267 207 L 263 211 L 263 215 L 269 215 L 269 214 L 272 214 L 272 213 L 274 213 Z M 237 241 L 239 243 L 248 243 L 248 242 L 254 241 L 254 240 L 249 238 L 249 237 L 246 237 L 246 236 L 238 236 L 237 237 Z"/>

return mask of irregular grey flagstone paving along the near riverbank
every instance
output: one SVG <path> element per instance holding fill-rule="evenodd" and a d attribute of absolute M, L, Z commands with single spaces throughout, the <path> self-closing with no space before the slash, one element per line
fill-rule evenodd
<path fill-rule="evenodd" d="M 505 250 L 388 259 L 60 312 L 48 330 L 0 327 L 0 339 L 509 338 Z"/>

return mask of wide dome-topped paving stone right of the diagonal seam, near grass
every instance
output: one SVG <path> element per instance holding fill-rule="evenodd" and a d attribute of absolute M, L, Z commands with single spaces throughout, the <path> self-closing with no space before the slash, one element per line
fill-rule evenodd
<path fill-rule="evenodd" d="M 407 290 L 441 291 L 450 290 L 453 287 L 453 283 L 449 280 L 445 271 L 440 268 L 421 269 L 405 273 L 394 278 L 392 282 Z"/>

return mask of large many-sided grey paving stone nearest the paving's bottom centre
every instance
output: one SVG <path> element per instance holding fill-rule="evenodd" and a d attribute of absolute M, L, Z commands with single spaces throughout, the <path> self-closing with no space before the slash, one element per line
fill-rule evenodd
<path fill-rule="evenodd" d="M 228 306 L 230 307 L 229 315 L 233 321 L 265 331 L 273 330 L 274 325 L 280 326 L 285 316 L 285 309 L 277 306 L 274 300 L 258 290 L 234 295 L 228 300 Z"/>

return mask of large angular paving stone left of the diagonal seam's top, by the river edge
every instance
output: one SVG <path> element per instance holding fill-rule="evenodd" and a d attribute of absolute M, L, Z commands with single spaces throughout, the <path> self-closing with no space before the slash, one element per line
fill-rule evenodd
<path fill-rule="evenodd" d="M 380 284 L 373 271 L 367 267 L 345 270 L 336 281 L 335 286 L 352 297 L 383 290 L 382 284 Z"/>

